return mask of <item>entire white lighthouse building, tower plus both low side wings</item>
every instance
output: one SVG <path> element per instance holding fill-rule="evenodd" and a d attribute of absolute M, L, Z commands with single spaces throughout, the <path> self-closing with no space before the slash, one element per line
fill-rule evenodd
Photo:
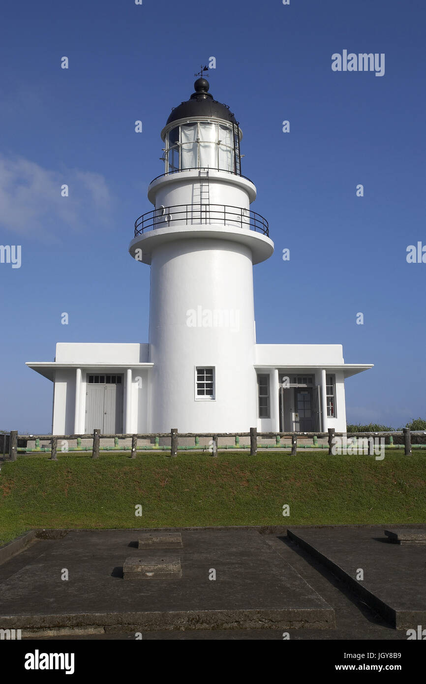
<path fill-rule="evenodd" d="M 194 85 L 129 247 L 151 269 L 149 341 L 58 343 L 52 363 L 27 363 L 54 383 L 53 434 L 345 432 L 345 378 L 371 365 L 345 364 L 341 345 L 256 344 L 252 268 L 274 243 L 235 116 Z"/>

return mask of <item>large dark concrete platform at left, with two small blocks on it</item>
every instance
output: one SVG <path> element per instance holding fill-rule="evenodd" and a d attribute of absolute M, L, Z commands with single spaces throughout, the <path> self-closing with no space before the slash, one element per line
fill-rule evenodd
<path fill-rule="evenodd" d="M 0 625 L 23 636 L 104 631 L 333 628 L 334 610 L 254 530 L 182 531 L 183 577 L 122 581 L 134 531 L 70 531 L 0 566 Z M 158 552 L 160 557 L 164 551 Z M 63 569 L 68 580 L 62 580 Z M 215 579 L 213 577 L 215 571 Z"/>

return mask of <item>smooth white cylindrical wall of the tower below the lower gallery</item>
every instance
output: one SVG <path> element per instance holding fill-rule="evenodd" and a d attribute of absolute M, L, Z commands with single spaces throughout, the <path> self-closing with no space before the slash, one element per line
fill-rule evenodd
<path fill-rule="evenodd" d="M 189 327 L 187 311 L 228 311 L 238 326 Z M 152 432 L 241 432 L 257 423 L 251 251 L 226 240 L 181 240 L 152 254 Z M 216 369 L 214 401 L 194 396 L 194 367 Z"/>

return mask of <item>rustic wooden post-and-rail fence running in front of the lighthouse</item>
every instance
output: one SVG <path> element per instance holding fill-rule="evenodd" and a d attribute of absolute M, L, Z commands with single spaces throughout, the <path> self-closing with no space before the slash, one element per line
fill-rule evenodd
<path fill-rule="evenodd" d="M 413 434 L 425 434 L 422 430 L 413 431 Z M 367 453 L 373 454 L 374 451 L 374 440 L 381 437 L 394 437 L 403 436 L 404 453 L 405 456 L 409 456 L 412 453 L 411 446 L 411 431 L 408 428 L 403 428 L 402 431 L 394 432 L 334 432 L 333 428 L 329 428 L 328 432 L 258 432 L 256 428 L 250 428 L 250 432 L 216 432 L 212 433 L 193 433 L 193 432 L 178 432 L 177 428 L 172 428 L 170 432 L 157 432 L 150 434 L 101 434 L 101 430 L 94 430 L 93 434 L 64 434 L 64 435 L 51 435 L 51 434 L 18 434 L 16 430 L 12 430 L 10 434 L 2 434 L 0 438 L 3 438 L 3 445 L 1 445 L 0 440 L 0 453 L 3 448 L 3 456 L 5 455 L 6 445 L 9 443 L 9 457 L 10 460 L 15 461 L 18 457 L 18 440 L 23 440 L 26 443 L 33 440 L 43 440 L 49 441 L 51 443 L 51 460 L 57 460 L 57 442 L 58 440 L 73 440 L 73 439 L 92 439 L 92 458 L 98 458 L 99 449 L 101 445 L 101 439 L 106 438 L 117 438 L 117 439 L 131 439 L 131 458 L 136 458 L 137 450 L 137 440 L 138 439 L 155 439 L 155 438 L 170 438 L 170 456 L 176 458 L 178 455 L 178 444 L 179 438 L 211 438 L 211 446 L 209 451 L 211 456 L 217 456 L 217 451 L 221 448 L 217 444 L 219 437 L 232 437 L 235 438 L 237 444 L 237 439 L 239 437 L 250 437 L 250 456 L 255 456 L 258 449 L 258 437 L 266 438 L 276 438 L 277 448 L 287 448 L 284 445 L 280 445 L 280 440 L 282 438 L 291 438 L 291 455 L 295 456 L 297 450 L 297 438 L 312 438 L 314 441 L 317 438 L 328 438 L 328 453 L 331 455 L 334 453 L 332 451 L 335 447 L 336 437 L 346 437 L 348 440 L 350 438 L 367 438 L 368 446 Z M 194 447 L 195 448 L 195 447 Z M 244 448 L 244 447 L 239 447 Z M 260 447 L 261 448 L 261 447 Z M 155 447 L 152 447 L 152 450 Z M 203 449 L 203 447 L 200 447 Z"/>

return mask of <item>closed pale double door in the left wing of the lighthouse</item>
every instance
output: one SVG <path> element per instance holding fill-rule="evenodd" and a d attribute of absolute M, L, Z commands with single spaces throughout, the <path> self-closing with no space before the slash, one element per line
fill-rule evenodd
<path fill-rule="evenodd" d="M 121 376 L 88 376 L 86 389 L 85 433 L 99 428 L 101 434 L 120 434 L 123 425 Z"/>

